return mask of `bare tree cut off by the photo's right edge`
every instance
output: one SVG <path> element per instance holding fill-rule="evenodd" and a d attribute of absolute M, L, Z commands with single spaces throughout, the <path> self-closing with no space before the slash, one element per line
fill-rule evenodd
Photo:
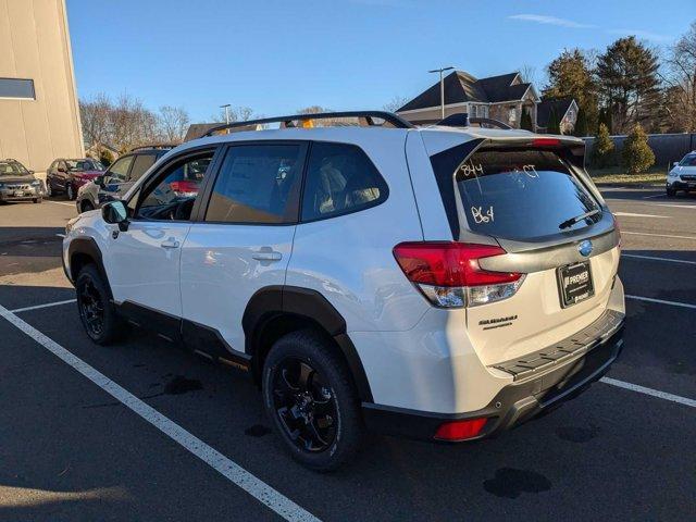
<path fill-rule="evenodd" d="M 696 132 L 696 22 L 668 51 L 666 109 L 671 128 Z"/>

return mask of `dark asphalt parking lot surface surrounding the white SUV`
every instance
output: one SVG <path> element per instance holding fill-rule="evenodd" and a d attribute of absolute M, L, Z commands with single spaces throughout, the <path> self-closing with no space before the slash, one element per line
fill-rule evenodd
<path fill-rule="evenodd" d="M 327 475 L 245 374 L 140 331 L 92 345 L 60 265 L 74 206 L 0 206 L 0 520 L 696 519 L 696 196 L 604 194 L 629 296 L 608 378 L 493 440 L 372 437 Z"/>

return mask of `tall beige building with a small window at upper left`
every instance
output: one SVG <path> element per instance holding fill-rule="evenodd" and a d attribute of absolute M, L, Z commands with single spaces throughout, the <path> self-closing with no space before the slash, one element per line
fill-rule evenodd
<path fill-rule="evenodd" d="M 0 0 L 0 158 L 83 156 L 65 0 Z"/>

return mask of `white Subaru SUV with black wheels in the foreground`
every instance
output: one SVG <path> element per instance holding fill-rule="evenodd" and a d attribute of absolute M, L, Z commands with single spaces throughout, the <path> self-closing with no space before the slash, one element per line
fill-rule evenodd
<path fill-rule="evenodd" d="M 133 323 L 247 371 L 320 471 L 365 430 L 489 437 L 618 357 L 620 234 L 582 140 L 383 112 L 253 123 L 271 121 L 173 149 L 69 223 L 95 343 Z"/>

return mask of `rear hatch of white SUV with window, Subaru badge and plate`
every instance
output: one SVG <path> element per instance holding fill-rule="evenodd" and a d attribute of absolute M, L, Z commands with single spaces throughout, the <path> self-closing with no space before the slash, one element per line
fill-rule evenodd
<path fill-rule="evenodd" d="M 468 333 L 482 361 L 523 358 L 596 321 L 618 270 L 618 233 L 569 150 L 544 138 L 487 142 L 468 158 L 457 158 L 456 149 L 431 159 L 440 191 L 451 179 L 453 194 L 443 201 L 456 204 L 446 209 L 457 220 L 455 237 L 495 241 L 507 252 L 473 261 L 480 269 L 523 274 L 511 296 L 492 293 L 487 300 L 484 287 L 467 304 Z"/>

